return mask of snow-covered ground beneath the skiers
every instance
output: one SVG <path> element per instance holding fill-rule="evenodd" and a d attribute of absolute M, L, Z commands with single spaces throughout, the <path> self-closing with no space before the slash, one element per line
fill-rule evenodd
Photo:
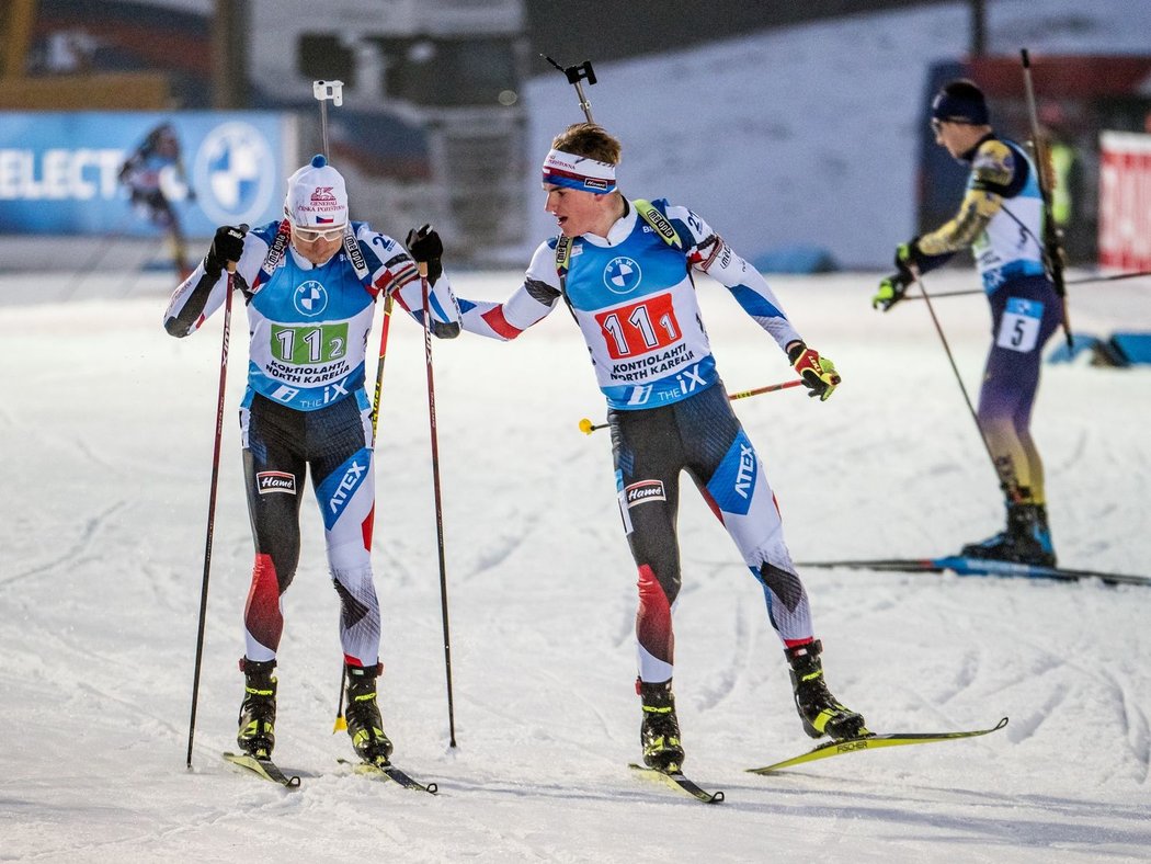
<path fill-rule="evenodd" d="M 601 91 L 602 92 L 602 91 Z M 193 770 L 184 767 L 220 354 L 220 319 L 160 327 L 161 282 L 92 275 L 67 303 L 0 306 L 8 397 L 0 502 L 0 859 L 1134 862 L 1151 857 L 1151 590 L 807 570 L 829 681 L 877 730 L 984 727 L 970 742 L 881 750 L 773 778 L 807 749 L 762 592 L 699 497 L 680 518 L 680 722 L 704 806 L 632 776 L 634 567 L 602 400 L 559 311 L 512 344 L 435 343 L 456 726 L 448 748 L 422 338 L 397 320 L 384 380 L 374 562 L 381 704 L 396 759 L 430 797 L 352 776 L 330 735 L 337 602 L 312 503 L 285 597 L 276 756 L 285 793 L 234 746 L 252 546 L 236 407 L 241 316 Z M 159 281 L 158 281 L 159 280 Z M 462 275 L 502 297 L 514 273 Z M 875 275 L 776 279 L 844 374 L 832 400 L 737 403 L 800 561 L 954 551 L 997 530 L 985 455 L 922 303 L 886 316 Z M 968 273 L 929 282 L 974 286 Z M 53 278 L 0 280 L 0 297 Z M 1146 328 L 1146 287 L 1073 294 L 1076 328 Z M 701 287 L 731 389 L 786 361 L 718 287 Z M 986 304 L 938 301 L 974 392 Z M 1151 370 L 1050 365 L 1035 417 L 1062 563 L 1151 573 Z M 689 485 L 689 484 L 688 484 Z"/>

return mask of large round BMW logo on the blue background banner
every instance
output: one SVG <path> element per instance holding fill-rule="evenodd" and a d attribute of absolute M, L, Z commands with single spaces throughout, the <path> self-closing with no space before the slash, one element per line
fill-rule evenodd
<path fill-rule="evenodd" d="M 196 151 L 193 183 L 199 204 L 215 222 L 237 225 L 259 219 L 276 189 L 275 156 L 267 138 L 243 121 L 212 129 Z"/>

